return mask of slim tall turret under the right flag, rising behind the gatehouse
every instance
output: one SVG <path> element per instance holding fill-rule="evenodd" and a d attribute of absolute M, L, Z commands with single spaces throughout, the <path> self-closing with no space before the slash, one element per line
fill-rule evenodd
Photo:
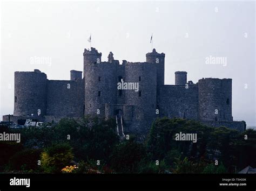
<path fill-rule="evenodd" d="M 165 54 L 159 54 L 156 49 L 146 54 L 146 62 L 157 63 L 157 86 L 164 85 L 164 60 Z"/>

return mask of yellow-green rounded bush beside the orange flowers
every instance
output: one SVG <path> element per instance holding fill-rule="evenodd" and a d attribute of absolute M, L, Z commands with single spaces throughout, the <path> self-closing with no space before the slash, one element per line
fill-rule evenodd
<path fill-rule="evenodd" d="M 72 147 L 69 144 L 55 144 L 45 148 L 41 154 L 41 164 L 45 173 L 60 173 L 73 160 Z"/>

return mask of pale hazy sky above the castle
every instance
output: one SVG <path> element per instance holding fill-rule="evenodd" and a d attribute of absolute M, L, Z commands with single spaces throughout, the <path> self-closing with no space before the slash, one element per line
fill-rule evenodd
<path fill-rule="evenodd" d="M 177 70 L 194 83 L 232 78 L 233 117 L 256 126 L 255 2 L 239 1 L 2 2 L 0 119 L 13 114 L 15 71 L 69 80 L 71 69 L 83 70 L 90 33 L 103 61 L 112 51 L 120 62 L 145 61 L 153 33 L 153 47 L 166 55 L 165 84 Z M 210 55 L 226 66 L 207 65 Z"/>

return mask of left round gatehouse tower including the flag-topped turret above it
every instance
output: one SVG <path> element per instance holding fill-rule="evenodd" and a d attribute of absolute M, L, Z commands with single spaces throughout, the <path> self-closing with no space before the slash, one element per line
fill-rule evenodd
<path fill-rule="evenodd" d="M 105 115 L 105 104 L 116 103 L 117 65 L 113 53 L 109 62 L 101 61 L 97 49 L 84 51 L 85 115 Z"/>

